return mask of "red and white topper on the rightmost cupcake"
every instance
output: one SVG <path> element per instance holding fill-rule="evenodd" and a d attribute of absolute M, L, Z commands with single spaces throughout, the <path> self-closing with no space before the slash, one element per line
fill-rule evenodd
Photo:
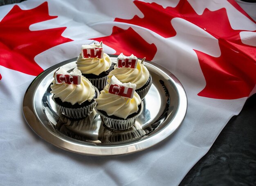
<path fill-rule="evenodd" d="M 130 56 L 125 56 L 123 53 L 121 53 L 117 57 L 117 67 L 122 68 L 137 68 L 138 58 L 134 56 L 133 54 Z"/>

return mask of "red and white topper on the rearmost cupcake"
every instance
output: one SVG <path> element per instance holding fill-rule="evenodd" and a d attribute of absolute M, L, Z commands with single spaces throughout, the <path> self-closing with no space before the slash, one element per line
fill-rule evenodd
<path fill-rule="evenodd" d="M 99 44 L 82 45 L 83 58 L 99 58 L 102 59 L 104 50 L 102 48 L 102 41 Z"/>

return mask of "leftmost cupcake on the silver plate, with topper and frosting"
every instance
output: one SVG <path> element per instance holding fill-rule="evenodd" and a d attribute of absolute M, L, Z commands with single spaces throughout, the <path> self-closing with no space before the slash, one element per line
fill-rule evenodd
<path fill-rule="evenodd" d="M 99 91 L 78 69 L 68 73 L 60 67 L 54 73 L 51 89 L 56 110 L 69 118 L 86 117 L 97 104 Z"/>

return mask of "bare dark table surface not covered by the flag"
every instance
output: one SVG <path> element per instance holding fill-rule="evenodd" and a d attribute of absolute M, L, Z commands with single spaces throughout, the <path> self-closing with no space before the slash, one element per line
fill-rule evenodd
<path fill-rule="evenodd" d="M 0 0 L 0 5 L 23 0 Z M 180 186 L 256 186 L 256 94 L 222 130 Z"/>

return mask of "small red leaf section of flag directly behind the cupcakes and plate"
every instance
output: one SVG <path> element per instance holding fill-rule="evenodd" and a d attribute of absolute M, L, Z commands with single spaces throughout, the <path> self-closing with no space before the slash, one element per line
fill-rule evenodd
<path fill-rule="evenodd" d="M 112 34 L 101 38 L 92 38 L 92 40 L 102 41 L 104 44 L 116 50 L 115 54 L 123 53 L 126 56 L 131 54 L 138 58 L 146 57 L 152 60 L 157 52 L 155 44 L 147 43 L 134 29 L 121 29 L 113 27 Z"/>

